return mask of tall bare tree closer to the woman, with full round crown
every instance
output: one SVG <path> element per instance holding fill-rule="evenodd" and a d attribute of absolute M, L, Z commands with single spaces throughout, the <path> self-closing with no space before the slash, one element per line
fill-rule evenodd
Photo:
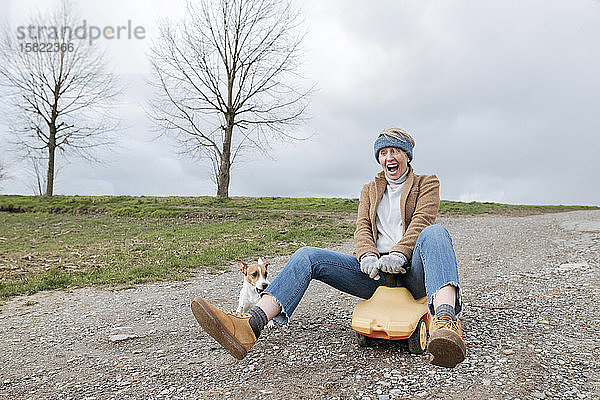
<path fill-rule="evenodd" d="M 288 130 L 312 90 L 298 84 L 301 22 L 287 0 L 201 0 L 182 21 L 160 24 L 149 117 L 182 153 L 211 160 L 219 197 L 244 150 L 300 139 Z"/>

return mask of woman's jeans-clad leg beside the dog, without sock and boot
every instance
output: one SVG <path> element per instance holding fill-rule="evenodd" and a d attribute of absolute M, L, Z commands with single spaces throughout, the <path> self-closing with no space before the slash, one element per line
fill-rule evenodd
<path fill-rule="evenodd" d="M 265 305 L 266 310 L 263 310 L 268 317 L 271 317 L 269 313 L 278 311 L 275 322 L 286 324 L 313 279 L 365 299 L 385 282 L 383 275 L 376 281 L 363 273 L 354 256 L 317 247 L 302 247 L 269 284 L 258 306 Z M 273 298 L 281 307 L 279 310 L 273 307 Z"/>

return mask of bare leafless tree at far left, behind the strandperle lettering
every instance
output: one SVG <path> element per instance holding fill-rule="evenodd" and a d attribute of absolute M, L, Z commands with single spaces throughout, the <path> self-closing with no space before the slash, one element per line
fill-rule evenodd
<path fill-rule="evenodd" d="M 6 30 L 0 47 L 11 144 L 24 159 L 47 154 L 45 196 L 54 192 L 57 150 L 97 160 L 92 149 L 111 144 L 118 125 L 111 111 L 121 89 L 105 53 L 74 34 L 80 24 L 61 1 L 25 29 Z"/>

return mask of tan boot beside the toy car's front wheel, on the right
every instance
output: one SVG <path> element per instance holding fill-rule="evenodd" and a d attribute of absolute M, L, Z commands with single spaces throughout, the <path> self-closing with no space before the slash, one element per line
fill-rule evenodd
<path fill-rule="evenodd" d="M 429 362 L 441 367 L 454 368 L 465 359 L 465 342 L 462 338 L 460 321 L 443 316 L 433 316 L 431 320 L 427 351 L 431 353 Z"/>

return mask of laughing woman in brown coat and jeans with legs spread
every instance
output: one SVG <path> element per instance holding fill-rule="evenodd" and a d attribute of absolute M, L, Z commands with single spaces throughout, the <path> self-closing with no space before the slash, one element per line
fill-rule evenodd
<path fill-rule="evenodd" d="M 404 286 L 415 298 L 427 295 L 433 315 L 427 345 L 431 363 L 455 367 L 463 361 L 456 256 L 448 231 L 434 225 L 440 205 L 437 177 L 413 173 L 414 144 L 398 128 L 385 129 L 375 140 L 375 159 L 383 170 L 362 189 L 352 256 L 299 249 L 247 314 L 219 310 L 197 297 L 192 312 L 202 328 L 241 360 L 270 320 L 287 323 L 312 279 L 361 298 L 371 297 L 387 279 L 388 286 Z"/>

